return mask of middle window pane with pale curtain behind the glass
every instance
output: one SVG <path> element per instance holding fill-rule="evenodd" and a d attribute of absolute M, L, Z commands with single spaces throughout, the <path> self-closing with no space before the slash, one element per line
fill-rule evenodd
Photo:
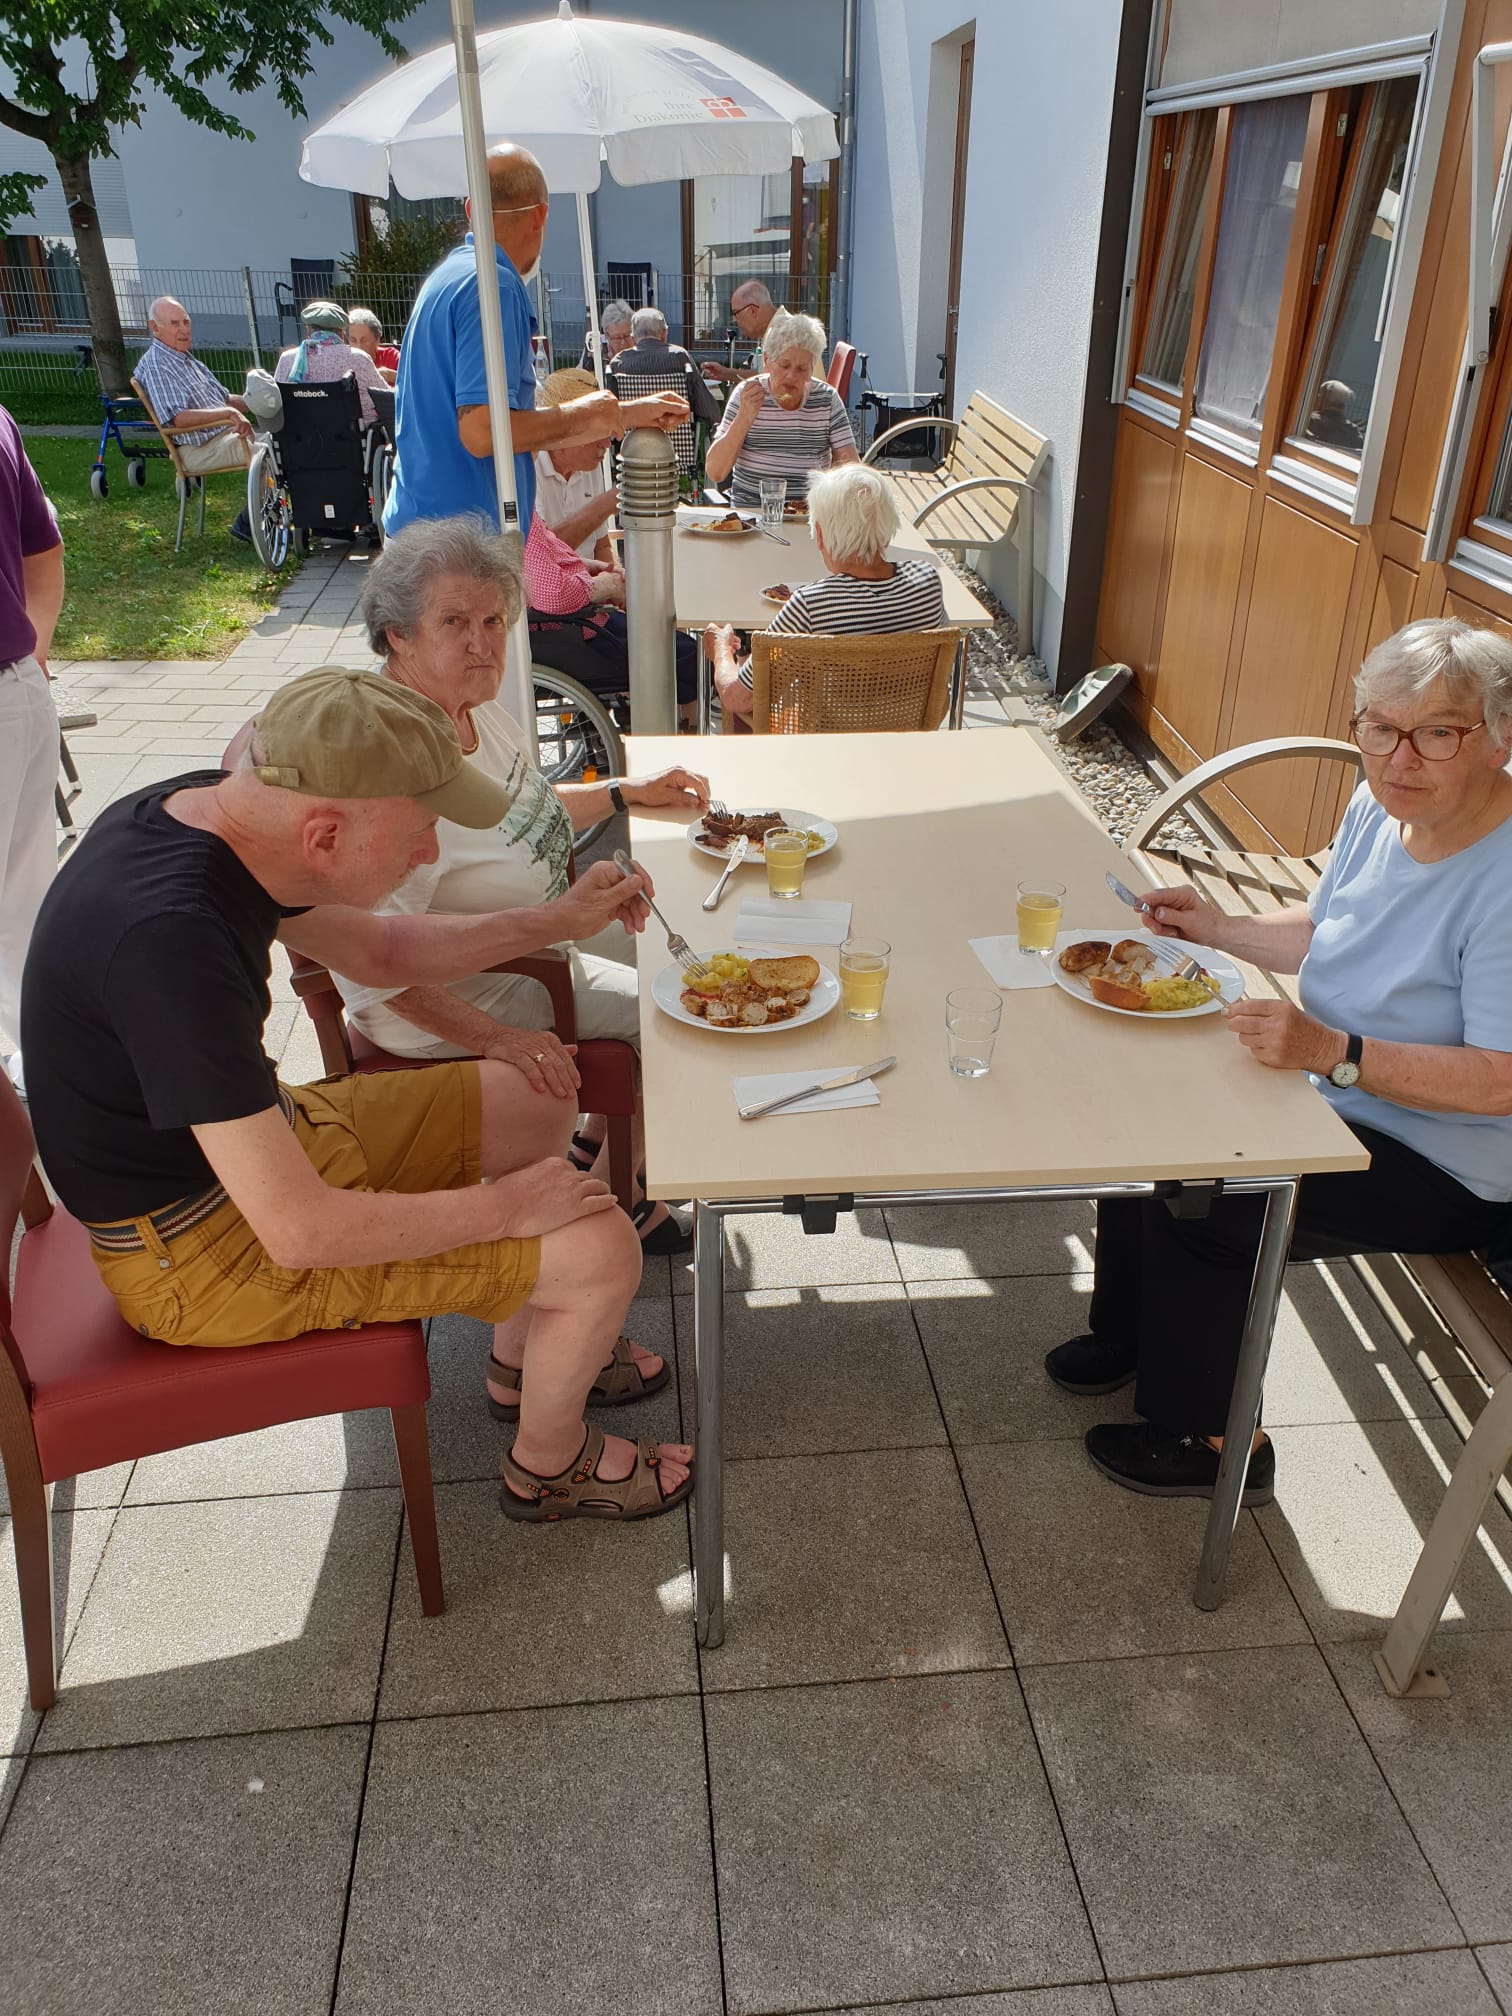
<path fill-rule="evenodd" d="M 1306 97 L 1254 99 L 1230 115 L 1193 411 L 1246 442 L 1260 439 L 1266 407 L 1308 105 Z"/>

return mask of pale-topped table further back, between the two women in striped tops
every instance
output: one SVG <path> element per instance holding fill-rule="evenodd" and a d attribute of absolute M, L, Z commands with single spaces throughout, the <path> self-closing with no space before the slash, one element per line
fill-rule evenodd
<path fill-rule="evenodd" d="M 823 581 L 825 562 L 808 532 L 806 518 L 782 522 L 778 538 L 764 532 L 696 532 L 698 522 L 720 518 L 724 512 L 708 506 L 677 506 L 677 524 L 671 534 L 671 595 L 673 623 L 677 629 L 702 633 L 708 623 L 734 623 L 736 629 L 766 629 L 778 611 L 778 603 L 764 597 L 764 589 L 786 583 L 796 589 L 804 581 Z M 756 518 L 754 510 L 740 512 L 742 518 Z M 950 629 L 990 629 L 992 613 L 972 595 L 954 566 L 946 566 L 923 532 L 911 524 L 899 526 L 897 538 L 887 548 L 889 560 L 923 560 L 939 573 L 946 597 L 943 625 Z M 962 702 L 966 698 L 966 667 L 956 665 L 950 722 L 960 726 Z M 698 726 L 700 734 L 710 728 L 710 675 L 700 663 L 698 679 Z"/>

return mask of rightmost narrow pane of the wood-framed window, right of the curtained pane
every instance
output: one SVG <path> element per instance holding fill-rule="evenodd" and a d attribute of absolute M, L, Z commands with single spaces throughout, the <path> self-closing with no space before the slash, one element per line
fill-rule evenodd
<path fill-rule="evenodd" d="M 1335 228 L 1318 325 L 1296 407 L 1296 437 L 1359 462 L 1375 377 L 1401 187 L 1417 111 L 1417 79 L 1365 93 Z"/>

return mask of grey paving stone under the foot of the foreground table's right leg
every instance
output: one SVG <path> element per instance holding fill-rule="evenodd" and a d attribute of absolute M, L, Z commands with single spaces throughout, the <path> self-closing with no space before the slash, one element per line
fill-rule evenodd
<path fill-rule="evenodd" d="M 1310 1643 L 1248 1512 L 1224 1601 L 1200 1611 L 1204 1502 L 1123 1492 L 1079 1439 L 962 1450 L 960 1464 L 1018 1665 Z"/>

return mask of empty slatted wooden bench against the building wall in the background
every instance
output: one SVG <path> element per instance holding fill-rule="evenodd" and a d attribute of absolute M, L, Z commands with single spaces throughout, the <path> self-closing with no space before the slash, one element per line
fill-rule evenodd
<path fill-rule="evenodd" d="M 863 462 L 875 462 L 899 433 L 933 427 L 948 435 L 937 470 L 887 470 L 897 504 L 931 546 L 964 554 L 976 548 L 1018 546 L 1018 641 L 1034 649 L 1034 500 L 1050 460 L 1042 433 L 1014 419 L 986 393 L 974 391 L 960 419 L 915 415 L 871 444 Z"/>

